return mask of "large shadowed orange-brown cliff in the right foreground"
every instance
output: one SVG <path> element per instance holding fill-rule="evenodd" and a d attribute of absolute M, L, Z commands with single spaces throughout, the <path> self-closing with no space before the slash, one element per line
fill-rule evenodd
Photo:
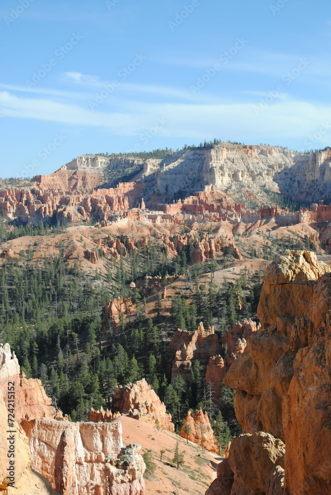
<path fill-rule="evenodd" d="M 262 329 L 225 377 L 243 429 L 230 447 L 231 494 L 238 483 L 260 495 L 331 493 L 330 272 L 304 251 L 266 270 Z"/>

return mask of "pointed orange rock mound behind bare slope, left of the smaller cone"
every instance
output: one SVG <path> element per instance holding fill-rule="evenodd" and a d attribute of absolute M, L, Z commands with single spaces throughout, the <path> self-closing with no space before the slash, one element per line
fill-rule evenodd
<path fill-rule="evenodd" d="M 120 387 L 113 396 L 113 409 L 138 421 L 158 424 L 164 430 L 175 431 L 171 414 L 167 414 L 164 403 L 144 378 Z"/>

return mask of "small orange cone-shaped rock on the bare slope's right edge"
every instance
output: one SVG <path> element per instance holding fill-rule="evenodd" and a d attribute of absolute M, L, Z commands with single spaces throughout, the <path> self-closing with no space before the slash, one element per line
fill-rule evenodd
<path fill-rule="evenodd" d="M 190 428 L 189 434 L 185 432 L 186 426 Z M 194 444 L 203 446 L 206 450 L 218 452 L 216 438 L 210 426 L 208 414 L 206 412 L 203 414 L 201 407 L 198 411 L 195 411 L 194 416 L 192 416 L 191 411 L 188 412 L 181 430 L 181 436 L 194 442 Z"/>

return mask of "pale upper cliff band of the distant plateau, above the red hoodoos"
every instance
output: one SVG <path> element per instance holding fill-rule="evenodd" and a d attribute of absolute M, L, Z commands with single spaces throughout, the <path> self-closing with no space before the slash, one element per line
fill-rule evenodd
<path fill-rule="evenodd" d="M 46 189 L 55 185 L 62 190 L 87 191 L 104 184 L 108 168 L 114 176 L 137 170 L 133 179 L 145 185 L 148 197 L 154 190 L 161 195 L 171 191 L 172 195 L 181 192 L 189 196 L 213 185 L 236 201 L 250 196 L 265 201 L 264 188 L 296 201 L 318 201 L 330 197 L 330 162 L 330 148 L 307 155 L 271 146 L 220 143 L 185 149 L 163 160 L 80 156 L 50 176 L 36 176 L 33 182 Z"/>

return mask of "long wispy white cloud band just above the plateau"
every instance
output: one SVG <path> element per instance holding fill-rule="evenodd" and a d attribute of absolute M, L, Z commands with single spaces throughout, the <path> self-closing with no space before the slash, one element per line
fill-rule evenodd
<path fill-rule="evenodd" d="M 250 142 L 281 139 L 304 141 L 316 133 L 323 123 L 331 124 L 331 107 L 297 101 L 287 97 L 277 99 L 255 115 L 253 103 L 223 102 L 219 104 L 123 102 L 122 110 L 113 113 L 91 111 L 79 105 L 50 99 L 19 98 L 0 92 L 0 112 L 7 117 L 59 122 L 68 126 L 100 127 L 115 135 L 137 136 L 149 129 L 155 120 L 168 123 L 159 136 L 244 137 Z M 321 146 L 331 142 L 331 134 L 323 135 Z M 320 144 L 317 144 L 317 148 Z"/>

